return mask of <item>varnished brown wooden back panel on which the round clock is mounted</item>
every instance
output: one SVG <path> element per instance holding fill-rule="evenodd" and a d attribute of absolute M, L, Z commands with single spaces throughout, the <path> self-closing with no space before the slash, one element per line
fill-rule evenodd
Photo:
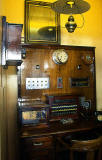
<path fill-rule="evenodd" d="M 66 64 L 57 65 L 53 62 L 52 54 L 56 49 L 63 48 L 68 53 L 68 61 Z M 95 98 L 95 68 L 93 60 L 92 64 L 85 61 L 86 55 L 92 59 L 95 58 L 94 48 L 90 47 L 27 47 L 26 59 L 21 65 L 21 97 L 22 98 L 44 98 L 45 94 L 77 94 L 91 99 L 92 105 Z M 40 69 L 36 69 L 36 65 Z M 78 65 L 81 69 L 78 69 Z M 50 88 L 38 90 L 26 90 L 26 78 L 49 77 Z M 57 78 L 62 77 L 63 88 L 57 88 Z M 70 78 L 86 78 L 88 77 L 89 87 L 71 87 Z"/>

